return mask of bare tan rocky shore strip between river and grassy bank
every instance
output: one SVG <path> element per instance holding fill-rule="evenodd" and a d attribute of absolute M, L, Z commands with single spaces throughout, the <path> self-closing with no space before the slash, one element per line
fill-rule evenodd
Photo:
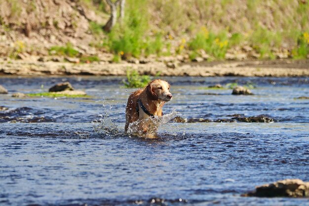
<path fill-rule="evenodd" d="M 225 61 L 182 63 L 176 68 L 163 62 L 147 64 L 96 62 L 76 64 L 69 62 L 5 60 L 0 59 L 0 75 L 48 76 L 48 75 L 95 75 L 120 76 L 126 70 L 137 70 L 140 74 L 160 76 L 243 76 L 243 77 L 308 77 L 309 60 L 272 61 Z"/>

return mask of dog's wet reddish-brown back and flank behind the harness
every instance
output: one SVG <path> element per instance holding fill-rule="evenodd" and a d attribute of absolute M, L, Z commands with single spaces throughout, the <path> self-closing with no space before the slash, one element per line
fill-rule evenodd
<path fill-rule="evenodd" d="M 142 93 L 142 91 L 143 90 L 139 89 L 133 92 L 128 98 L 128 102 L 127 102 L 126 109 L 125 109 L 125 120 L 126 120 L 125 127 L 124 127 L 125 131 L 128 130 L 130 123 L 138 121 L 139 119 L 138 113 L 136 111 L 136 105 L 137 105 L 138 98 L 140 94 Z"/>

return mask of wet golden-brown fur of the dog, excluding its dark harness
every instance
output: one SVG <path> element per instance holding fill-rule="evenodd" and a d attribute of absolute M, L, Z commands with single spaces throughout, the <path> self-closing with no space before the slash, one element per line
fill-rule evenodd
<path fill-rule="evenodd" d="M 158 98 L 158 94 L 155 93 L 155 88 L 154 88 L 154 85 L 158 86 L 162 84 L 164 84 L 165 87 L 166 86 L 169 87 L 169 84 L 165 81 L 153 80 L 144 89 L 139 89 L 133 92 L 129 96 L 127 106 L 126 106 L 126 111 L 125 111 L 125 119 L 126 119 L 126 123 L 124 127 L 125 132 L 128 130 L 130 123 L 145 119 L 145 117 L 141 117 L 142 115 L 139 116 L 138 113 L 136 112 L 136 106 L 138 104 L 137 102 L 138 99 L 141 99 L 142 104 L 151 114 L 153 114 L 154 116 L 162 116 L 162 107 L 165 101 Z M 162 88 L 165 88 L 165 87 L 162 86 Z M 170 94 L 170 92 L 168 90 L 166 91 L 166 89 L 162 92 Z M 159 95 L 161 96 L 162 94 L 159 93 Z M 166 101 L 169 101 L 169 100 L 166 100 Z M 140 113 L 141 112 L 143 111 L 140 110 Z M 141 125 L 141 130 L 144 132 L 147 132 L 147 125 Z"/>

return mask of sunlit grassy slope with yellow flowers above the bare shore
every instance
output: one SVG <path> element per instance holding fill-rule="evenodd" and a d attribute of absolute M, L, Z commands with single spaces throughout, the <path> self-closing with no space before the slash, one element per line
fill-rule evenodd
<path fill-rule="evenodd" d="M 125 8 L 122 23 L 105 33 L 105 1 L 3 0 L 0 55 L 59 55 L 84 63 L 309 57 L 308 0 L 126 0 Z"/>

